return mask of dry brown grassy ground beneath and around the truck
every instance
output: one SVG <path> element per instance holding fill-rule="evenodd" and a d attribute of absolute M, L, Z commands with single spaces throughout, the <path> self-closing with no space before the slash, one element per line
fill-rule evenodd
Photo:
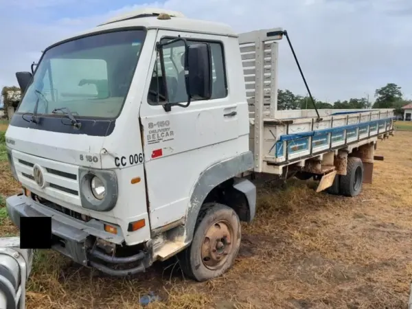
<path fill-rule="evenodd" d="M 205 283 L 183 278 L 175 260 L 133 279 L 113 279 L 38 252 L 27 308 L 406 308 L 412 279 L 412 132 L 379 141 L 374 183 L 356 198 L 316 194 L 290 180 L 259 189 L 253 224 L 242 225 L 236 264 Z M 19 191 L 6 163 L 0 193 Z M 2 220 L 2 236 L 16 233 Z"/>

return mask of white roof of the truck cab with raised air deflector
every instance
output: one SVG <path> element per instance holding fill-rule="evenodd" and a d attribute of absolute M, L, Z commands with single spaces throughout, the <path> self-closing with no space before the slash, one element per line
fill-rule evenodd
<path fill-rule="evenodd" d="M 162 13 L 168 14 L 170 16 L 170 19 L 159 19 L 158 16 Z M 72 37 L 84 36 L 87 34 L 92 34 L 93 32 L 101 32 L 104 30 L 113 30 L 116 28 L 126 27 L 145 27 L 146 29 L 179 30 L 181 32 L 218 34 L 222 36 L 238 37 L 238 34 L 236 34 L 236 32 L 233 32 L 231 27 L 229 27 L 229 25 L 225 25 L 224 23 L 201 21 L 197 19 L 187 19 L 180 12 L 151 8 L 136 10 L 128 12 L 121 16 L 115 16 L 113 19 L 110 19 L 105 23 L 98 25 L 97 27 L 93 27 Z"/>

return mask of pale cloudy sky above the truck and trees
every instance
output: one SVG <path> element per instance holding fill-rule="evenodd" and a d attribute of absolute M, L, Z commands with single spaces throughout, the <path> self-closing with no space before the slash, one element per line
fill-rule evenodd
<path fill-rule="evenodd" d="M 314 98 L 369 95 L 393 82 L 412 99 L 411 0 L 0 0 L 0 87 L 17 85 L 41 51 L 117 14 L 142 7 L 227 23 L 240 32 L 288 31 Z M 286 39 L 279 88 L 306 95 Z"/>

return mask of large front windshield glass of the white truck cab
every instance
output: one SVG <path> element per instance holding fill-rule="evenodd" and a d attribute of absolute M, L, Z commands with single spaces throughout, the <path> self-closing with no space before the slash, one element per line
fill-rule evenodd
<path fill-rule="evenodd" d="M 146 32 L 127 30 L 78 38 L 45 52 L 17 113 L 54 115 L 69 108 L 75 117 L 115 118 L 139 59 Z"/>

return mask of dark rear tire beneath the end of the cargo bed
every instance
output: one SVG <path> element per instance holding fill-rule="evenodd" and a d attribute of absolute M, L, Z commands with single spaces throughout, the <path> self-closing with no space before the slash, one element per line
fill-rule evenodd
<path fill-rule="evenodd" d="M 341 175 L 340 191 L 343 196 L 357 196 L 362 191 L 363 163 L 356 157 L 347 158 L 346 175 Z"/>

